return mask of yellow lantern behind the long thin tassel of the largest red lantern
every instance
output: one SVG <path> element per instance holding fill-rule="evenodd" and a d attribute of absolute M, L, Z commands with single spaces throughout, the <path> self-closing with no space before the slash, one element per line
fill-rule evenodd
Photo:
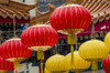
<path fill-rule="evenodd" d="M 65 65 L 67 70 L 74 71 L 76 73 L 80 73 L 80 71 L 84 71 L 91 65 L 90 62 L 87 62 L 79 56 L 78 51 L 74 52 L 74 65 L 73 66 L 70 64 L 70 61 L 72 61 L 72 53 L 65 56 L 65 63 L 66 63 Z"/>

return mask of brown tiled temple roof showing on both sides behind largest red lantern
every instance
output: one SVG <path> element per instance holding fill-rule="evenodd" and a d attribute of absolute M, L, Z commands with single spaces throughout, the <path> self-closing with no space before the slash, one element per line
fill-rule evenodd
<path fill-rule="evenodd" d="M 105 0 L 82 0 L 80 1 L 80 6 L 85 7 L 89 10 L 92 15 L 92 23 L 97 23 L 98 21 L 110 20 L 110 3 Z M 31 19 L 31 24 L 43 21 L 44 23 L 50 20 L 51 13 L 53 11 L 45 12 L 43 14 L 37 15 L 36 18 Z"/>

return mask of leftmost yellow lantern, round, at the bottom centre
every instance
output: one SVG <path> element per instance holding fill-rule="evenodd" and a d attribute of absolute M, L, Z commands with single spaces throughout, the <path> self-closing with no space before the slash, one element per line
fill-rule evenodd
<path fill-rule="evenodd" d="M 50 59 L 47 59 L 45 66 L 52 73 L 66 72 L 64 59 L 65 59 L 64 55 L 59 54 L 53 55 Z"/>

